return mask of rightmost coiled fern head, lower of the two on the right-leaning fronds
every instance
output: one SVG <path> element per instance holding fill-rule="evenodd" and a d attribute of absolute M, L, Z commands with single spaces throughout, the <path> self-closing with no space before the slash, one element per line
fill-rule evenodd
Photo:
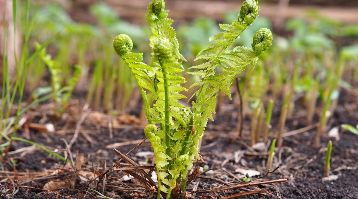
<path fill-rule="evenodd" d="M 270 45 L 272 45 L 272 33 L 271 30 L 267 28 L 260 28 L 255 35 L 253 35 L 252 39 L 252 49 L 255 51 L 256 54 L 261 54 Z"/>

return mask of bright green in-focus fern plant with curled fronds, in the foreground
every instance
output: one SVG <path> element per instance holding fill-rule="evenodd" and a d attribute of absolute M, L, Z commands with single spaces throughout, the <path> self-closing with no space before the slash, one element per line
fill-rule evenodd
<path fill-rule="evenodd" d="M 168 11 L 164 8 L 164 0 L 152 0 L 148 7 L 146 21 L 151 25 L 149 46 L 152 48 L 153 66 L 142 62 L 143 53 L 130 52 L 133 44 L 128 35 L 120 34 L 113 41 L 113 48 L 130 68 L 144 101 L 149 122 L 144 133 L 155 153 L 158 199 L 160 195 L 184 198 L 188 171 L 194 158 L 200 158 L 199 139 L 208 119 L 213 120 L 218 91 L 223 91 L 231 99 L 229 88 L 234 78 L 247 65 L 254 68 L 258 55 L 272 42 L 271 31 L 263 28 L 254 35 L 252 49 L 229 49 L 258 16 L 258 3 L 246 0 L 237 20 L 232 24 L 219 24 L 223 32 L 210 37 L 212 43 L 202 49 L 195 59 L 206 59 L 207 62 L 190 68 L 197 71 L 189 74 L 201 77 L 190 87 L 199 86 L 192 96 L 196 96 L 196 101 L 192 103 L 191 110 L 179 102 L 185 98 L 180 92 L 187 91 L 180 86 L 186 82 L 185 78 L 178 75 L 184 71 L 182 62 L 186 60 L 179 52 L 175 30 L 171 27 L 173 20 L 168 18 Z"/>

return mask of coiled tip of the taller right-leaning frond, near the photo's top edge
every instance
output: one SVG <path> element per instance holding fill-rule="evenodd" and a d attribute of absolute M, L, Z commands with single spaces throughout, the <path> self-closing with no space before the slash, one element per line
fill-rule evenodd
<path fill-rule="evenodd" d="M 259 9 L 256 0 L 246 0 L 242 3 L 237 20 L 243 24 L 250 25 L 257 18 Z"/>

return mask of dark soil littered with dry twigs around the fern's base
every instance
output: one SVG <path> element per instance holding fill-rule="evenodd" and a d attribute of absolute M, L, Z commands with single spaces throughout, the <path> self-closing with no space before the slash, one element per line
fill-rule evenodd
<path fill-rule="evenodd" d="M 343 123 L 355 125 L 358 121 L 357 104 L 354 103 L 352 93 L 342 92 L 337 109 L 329 121 L 328 128 L 339 126 Z M 236 105 L 223 105 L 221 111 L 216 115 L 215 122 L 209 122 L 207 131 L 203 137 L 201 155 L 209 166 L 210 172 L 203 176 L 212 177 L 212 179 L 197 177 L 192 184 L 188 186 L 190 193 L 195 184 L 198 184 L 197 190 L 209 190 L 224 185 L 241 184 L 243 176 L 236 170 L 252 169 L 260 171 L 260 176 L 266 173 L 267 152 L 256 152 L 249 147 L 248 132 L 250 129 L 250 120 L 246 118 L 243 126 L 243 137 L 233 141 L 236 135 Z M 82 105 L 78 101 L 72 101 L 68 110 L 61 120 L 56 120 L 52 116 L 52 111 L 46 109 L 47 105 L 34 107 L 28 112 L 28 121 L 30 123 L 45 123 L 51 121 L 54 123 L 56 132 L 47 133 L 30 128 L 30 140 L 38 144 L 47 146 L 50 150 L 59 151 L 61 155 L 67 154 L 66 144 L 73 138 L 76 125 L 80 118 L 85 114 L 82 112 Z M 276 124 L 279 118 L 279 107 L 273 114 L 273 131 L 276 131 Z M 318 108 L 319 109 L 319 108 Z M 320 110 L 317 110 L 319 113 Z M 305 127 L 303 109 L 300 107 L 299 100 L 296 101 L 295 111 L 286 122 L 286 130 L 292 131 Z M 43 115 L 44 114 L 44 115 Z M 44 119 L 44 117 L 47 119 Z M 2 185 L 14 185 L 18 183 L 23 187 L 0 187 L 0 198 L 16 199 L 57 199 L 62 198 L 59 195 L 44 192 L 34 188 L 48 188 L 48 182 L 62 181 L 65 186 L 50 186 L 57 193 L 69 196 L 69 198 L 96 198 L 93 191 L 88 188 L 96 189 L 95 183 L 88 185 L 87 180 L 80 179 L 79 171 L 88 171 L 90 174 L 97 175 L 108 169 L 113 162 L 120 157 L 112 150 L 116 148 L 122 153 L 127 153 L 144 139 L 143 128 L 145 124 L 135 117 L 121 115 L 112 116 L 112 135 L 110 138 L 110 128 L 108 128 L 109 115 L 91 112 L 79 128 L 79 134 L 71 147 L 73 159 L 76 162 L 82 162 L 77 165 L 77 171 L 69 164 L 64 165 L 63 161 L 47 154 L 36 147 L 30 147 L 24 142 L 15 141 L 10 149 L 8 157 L 16 162 L 16 170 L 8 160 L 1 160 L 0 183 Z M 115 122 L 113 122 L 115 121 Z M 316 121 L 318 117 L 316 117 Z M 240 198 L 358 198 L 358 136 L 340 130 L 339 140 L 324 135 L 321 138 L 320 147 L 312 147 L 316 129 L 313 128 L 299 134 L 287 136 L 284 139 L 283 147 L 275 150 L 274 165 L 281 167 L 274 173 L 264 178 L 256 179 L 252 177 L 252 182 L 275 180 L 287 178 L 287 182 L 279 184 L 265 184 L 247 189 L 226 190 L 211 194 L 197 194 L 194 198 L 222 198 L 240 193 L 240 191 L 267 190 L 263 194 L 251 194 L 241 196 Z M 19 137 L 25 137 L 24 127 L 17 134 Z M 271 138 L 272 139 L 272 138 Z M 132 144 L 130 141 L 133 141 Z M 325 162 L 326 145 L 329 140 L 333 141 L 333 150 L 331 157 L 331 175 L 337 175 L 337 180 L 322 181 L 323 166 Z M 112 147 L 109 146 L 114 144 Z M 24 148 L 28 147 L 28 148 Z M 266 145 L 266 151 L 269 144 Z M 67 151 L 66 153 L 64 151 Z M 149 142 L 144 142 L 141 146 L 131 152 L 128 157 L 139 164 L 150 165 L 151 159 L 147 162 L 145 157 L 137 156 L 138 152 L 152 151 Z M 77 154 L 77 155 L 76 155 Z M 81 161 L 81 155 L 84 160 Z M 105 162 L 105 164 L 104 164 Z M 104 167 L 103 167 L 104 166 Z M 110 171 L 107 175 L 105 184 L 105 195 L 112 198 L 133 198 L 132 193 L 146 193 L 143 188 L 137 187 L 129 180 L 122 178 L 124 173 Z M 87 178 L 90 178 L 87 176 Z M 11 180 L 14 181 L 11 181 Z M 18 179 L 18 181 L 16 181 Z M 215 180 L 216 179 L 216 180 Z M 220 179 L 220 180 L 218 180 Z M 66 184 L 67 183 L 67 184 Z M 72 183 L 72 186 L 71 186 Z M 47 184 L 47 185 L 46 185 Z M 31 188 L 29 188 L 31 187 Z M 103 189 L 103 183 L 98 185 L 100 191 Z M 14 192 L 14 190 L 16 190 Z M 152 195 L 153 196 L 153 195 Z"/>

